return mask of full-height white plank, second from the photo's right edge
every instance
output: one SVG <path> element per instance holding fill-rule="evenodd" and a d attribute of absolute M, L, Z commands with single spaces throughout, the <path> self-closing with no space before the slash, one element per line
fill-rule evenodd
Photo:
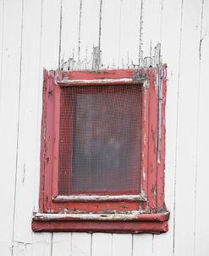
<path fill-rule="evenodd" d="M 201 2 L 184 1 L 179 71 L 174 254 L 194 255 Z M 188 63 L 190 68 L 188 69 Z M 192 74 L 192 75 L 191 75 Z M 185 214 L 185 217 L 182 217 Z"/>

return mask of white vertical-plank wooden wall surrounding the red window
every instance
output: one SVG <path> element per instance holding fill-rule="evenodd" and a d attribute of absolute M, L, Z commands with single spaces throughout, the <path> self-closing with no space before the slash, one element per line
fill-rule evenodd
<path fill-rule="evenodd" d="M 140 1 L 102 1 L 104 66 L 138 63 Z M 78 60 L 79 37 L 80 60 L 91 58 L 99 19 L 100 0 L 83 0 L 81 19 L 80 0 L 0 0 L 0 255 L 208 256 L 208 0 L 143 1 L 143 55 L 161 42 L 168 64 L 169 231 L 91 235 L 30 229 L 38 209 L 42 68 L 58 68 L 59 56 Z"/>

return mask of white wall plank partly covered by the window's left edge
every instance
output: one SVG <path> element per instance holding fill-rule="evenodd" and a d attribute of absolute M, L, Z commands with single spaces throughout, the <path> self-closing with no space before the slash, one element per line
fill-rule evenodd
<path fill-rule="evenodd" d="M 60 41 L 60 0 L 43 0 L 41 5 L 41 61 L 40 74 L 36 86 L 36 160 L 34 177 L 33 209 L 38 210 L 39 182 L 40 182 L 40 148 L 41 148 L 41 114 L 42 114 L 42 83 L 43 68 L 58 69 L 59 41 Z M 30 219 L 31 220 L 31 219 Z M 47 256 L 52 253 L 52 233 L 33 233 L 32 255 Z"/>

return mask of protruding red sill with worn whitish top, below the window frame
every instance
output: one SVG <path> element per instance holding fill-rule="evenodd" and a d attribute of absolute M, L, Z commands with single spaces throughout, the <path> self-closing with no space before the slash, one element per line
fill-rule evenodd
<path fill-rule="evenodd" d="M 169 212 L 158 214 L 41 214 L 33 217 L 33 231 L 162 233 L 168 231 Z"/>

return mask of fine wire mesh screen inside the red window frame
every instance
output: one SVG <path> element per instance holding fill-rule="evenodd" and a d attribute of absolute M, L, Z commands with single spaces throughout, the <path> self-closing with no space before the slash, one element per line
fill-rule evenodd
<path fill-rule="evenodd" d="M 141 86 L 61 87 L 59 194 L 140 190 Z"/>

